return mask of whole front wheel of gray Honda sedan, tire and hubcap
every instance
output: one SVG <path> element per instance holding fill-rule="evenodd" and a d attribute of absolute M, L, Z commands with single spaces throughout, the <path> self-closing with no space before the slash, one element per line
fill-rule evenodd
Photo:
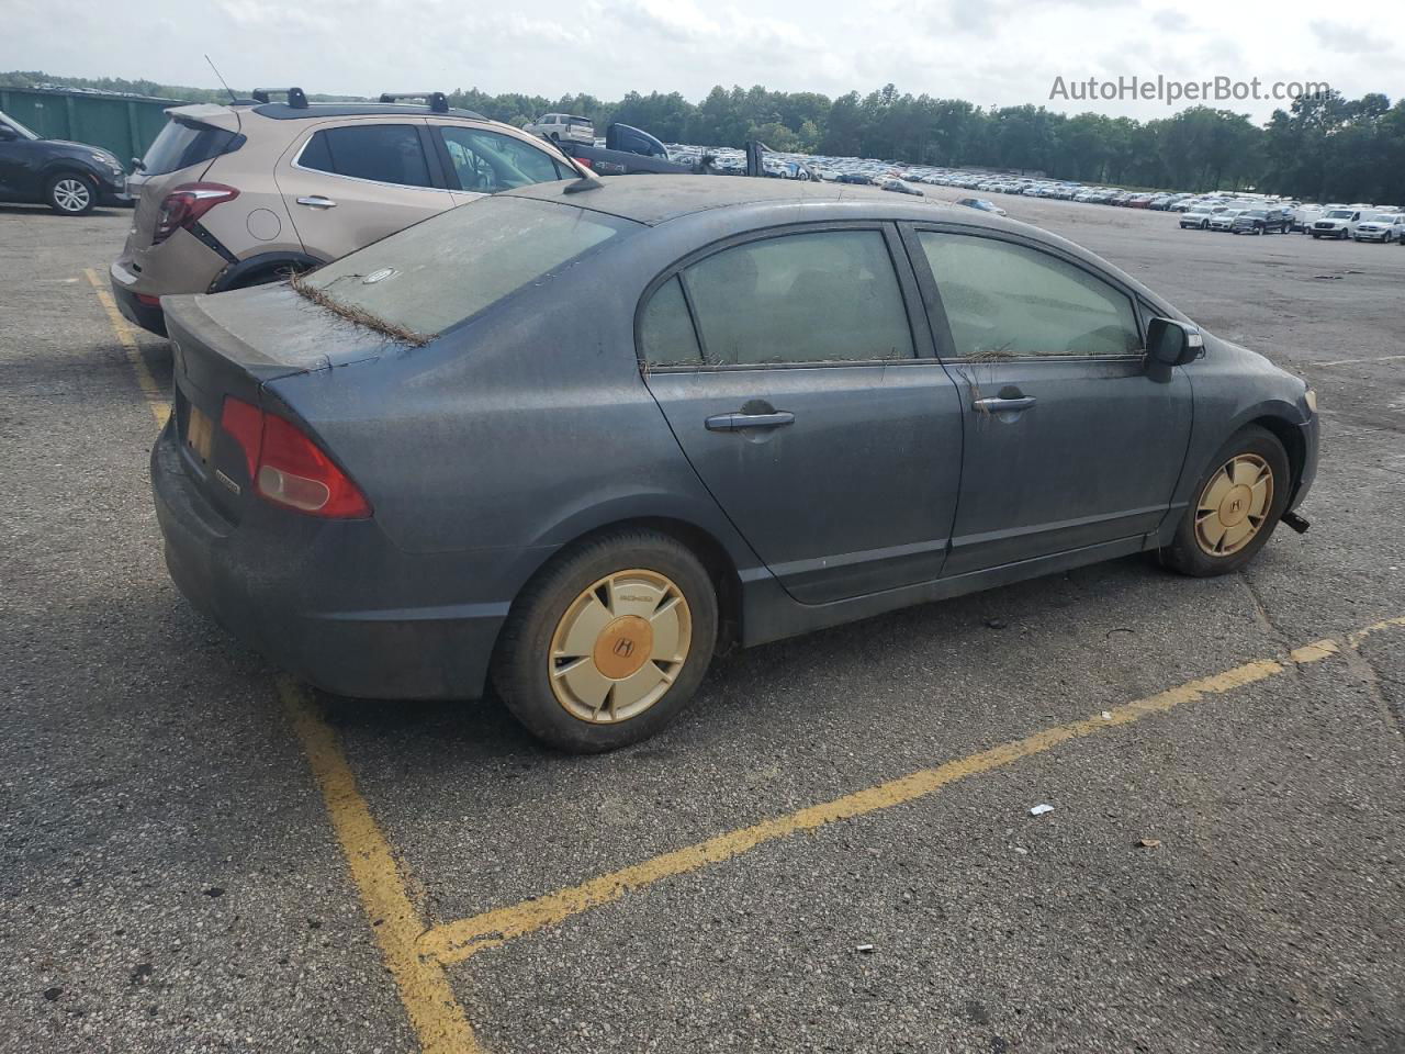
<path fill-rule="evenodd" d="M 1200 479 L 1162 561 L 1194 578 L 1238 571 L 1262 549 L 1288 505 L 1291 472 L 1279 437 L 1250 424 L 1225 443 Z"/>

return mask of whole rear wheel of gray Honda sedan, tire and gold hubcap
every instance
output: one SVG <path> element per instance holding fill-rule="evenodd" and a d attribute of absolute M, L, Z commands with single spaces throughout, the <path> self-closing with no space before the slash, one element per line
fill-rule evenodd
<path fill-rule="evenodd" d="M 563 551 L 521 592 L 493 684 L 540 739 L 599 753 L 672 722 L 717 644 L 717 589 L 676 538 L 648 530 Z"/>

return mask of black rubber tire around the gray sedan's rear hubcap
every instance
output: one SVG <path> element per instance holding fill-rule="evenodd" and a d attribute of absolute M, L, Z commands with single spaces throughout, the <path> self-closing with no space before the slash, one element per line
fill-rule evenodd
<path fill-rule="evenodd" d="M 642 713 L 617 722 L 589 721 L 569 711 L 552 689 L 548 675 L 552 638 L 568 610 L 593 583 L 631 569 L 660 575 L 677 587 L 687 603 L 691 642 L 681 666 L 673 672 L 672 686 Z M 513 601 L 493 653 L 493 686 L 538 739 L 572 753 L 614 750 L 658 734 L 687 708 L 712 661 L 717 621 L 717 586 L 691 549 L 659 531 L 604 534 L 563 549 Z"/>

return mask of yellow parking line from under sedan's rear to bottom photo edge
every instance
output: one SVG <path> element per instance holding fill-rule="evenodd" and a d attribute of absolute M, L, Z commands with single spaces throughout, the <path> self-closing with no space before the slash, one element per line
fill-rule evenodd
<path fill-rule="evenodd" d="M 322 788 L 332 828 L 361 894 L 385 965 L 410 1015 L 420 1050 L 424 1054 L 472 1054 L 482 1050 L 444 970 L 416 947 L 426 926 L 406 892 L 391 843 L 357 788 L 336 732 L 322 720 L 306 690 L 292 680 L 278 679 L 278 696 Z"/>

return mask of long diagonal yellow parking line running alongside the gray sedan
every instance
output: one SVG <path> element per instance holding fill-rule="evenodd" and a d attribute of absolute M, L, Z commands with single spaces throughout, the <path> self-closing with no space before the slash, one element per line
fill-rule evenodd
<path fill-rule="evenodd" d="M 1364 637 L 1395 625 L 1405 625 L 1405 617 L 1385 620 L 1359 630 L 1347 638 L 1347 644 L 1354 646 Z M 1288 662 L 1300 666 L 1322 662 L 1340 649 L 1342 644 L 1338 641 L 1315 641 L 1290 652 Z M 842 819 L 853 819 L 870 812 L 903 805 L 960 780 L 1043 753 L 1071 739 L 1096 735 L 1104 729 L 1141 721 L 1144 717 L 1154 714 L 1163 714 L 1205 696 L 1222 696 L 1246 684 L 1276 677 L 1286 669 L 1290 669 L 1290 666 L 1277 659 L 1246 662 L 1222 673 L 1191 680 L 1179 687 L 1148 696 L 1146 698 L 1124 703 L 1097 717 L 1047 728 L 1023 739 L 1014 739 L 989 750 L 971 755 L 969 757 L 961 757 L 934 769 L 922 769 L 888 783 L 846 794 L 833 801 L 811 805 L 784 816 L 776 816 L 739 831 L 718 835 L 707 842 L 665 853 L 663 856 L 645 860 L 620 871 L 603 874 L 580 885 L 556 890 L 545 897 L 488 911 L 469 919 L 443 923 L 427 932 L 420 939 L 419 947 L 422 953 L 436 957 L 440 963 L 459 963 L 514 937 L 554 926 L 593 908 L 613 904 L 625 894 L 641 891 L 663 878 L 722 863 L 767 842 L 788 838 L 801 831 L 813 831 Z"/>

